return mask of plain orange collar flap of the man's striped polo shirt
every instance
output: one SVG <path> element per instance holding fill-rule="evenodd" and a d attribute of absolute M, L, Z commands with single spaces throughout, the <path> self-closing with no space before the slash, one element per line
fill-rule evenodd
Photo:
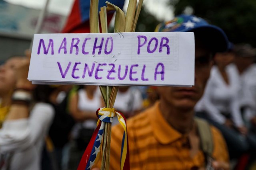
<path fill-rule="evenodd" d="M 152 124 L 154 136 L 161 144 L 168 144 L 182 137 L 163 117 L 160 111 L 160 102 L 156 102 L 152 107 L 149 118 Z"/>

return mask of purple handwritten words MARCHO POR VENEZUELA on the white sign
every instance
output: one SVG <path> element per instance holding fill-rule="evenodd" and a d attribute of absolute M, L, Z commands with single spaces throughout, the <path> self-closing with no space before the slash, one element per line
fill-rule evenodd
<path fill-rule="evenodd" d="M 150 38 L 148 41 L 148 38 L 144 35 L 138 35 L 137 36 L 138 40 L 138 49 L 137 49 L 137 54 L 140 55 L 140 50 L 142 48 L 146 48 L 146 51 L 148 53 L 154 53 L 158 51 L 159 53 L 162 53 L 163 48 L 165 48 L 164 51 L 166 51 L 166 55 L 170 54 L 170 47 L 168 45 L 169 39 L 168 37 L 161 37 L 160 39 L 157 39 L 156 37 Z M 82 43 L 82 49 L 79 49 L 78 45 L 80 43 L 79 38 L 72 38 L 71 45 L 70 45 L 70 54 L 73 54 L 73 50 L 75 49 L 75 54 L 79 55 L 79 53 L 82 53 L 83 55 L 88 55 L 92 54 L 95 55 L 98 51 L 98 55 L 101 53 L 104 53 L 105 55 L 109 55 L 113 51 L 113 46 L 114 46 L 114 41 L 112 37 L 107 37 L 106 41 L 104 37 L 101 38 L 100 43 L 98 43 L 98 38 L 96 37 L 94 39 L 94 45 L 92 47 L 91 53 L 89 51 L 85 50 L 86 47 L 86 42 L 87 41 L 92 41 L 90 37 L 87 37 L 84 39 Z M 158 47 L 159 44 L 159 47 Z M 46 49 L 46 44 L 44 39 L 40 39 L 39 44 L 38 44 L 38 51 L 37 54 L 40 55 L 41 47 L 43 49 L 44 55 L 48 55 L 49 50 L 51 51 L 51 55 L 54 55 L 54 40 L 49 39 L 48 41 L 48 47 Z M 158 49 L 158 50 L 157 50 Z M 62 52 L 63 51 L 63 52 Z M 62 40 L 62 43 L 60 44 L 58 48 L 58 54 L 60 53 L 67 54 L 67 39 L 64 37 Z M 124 79 L 130 79 L 130 81 L 138 81 L 138 72 L 133 70 L 134 67 L 139 67 L 138 64 L 131 64 L 130 66 L 125 65 L 125 68 L 122 68 L 122 65 L 116 66 L 114 63 L 91 63 L 90 65 L 88 63 L 84 63 L 84 71 L 82 75 L 76 75 L 76 71 L 80 70 L 79 66 L 82 64 L 81 62 L 69 62 L 66 68 L 63 68 L 62 64 L 60 62 L 57 62 L 58 68 L 60 70 L 60 75 L 62 76 L 63 79 L 66 78 L 66 75 L 68 71 L 70 70 L 70 67 L 73 65 L 72 73 L 71 76 L 74 79 L 79 79 L 79 78 L 86 78 L 86 72 L 88 74 L 88 77 L 94 77 L 96 80 L 102 79 L 102 77 L 98 76 L 99 72 L 104 71 L 104 66 L 111 66 L 112 68 L 110 70 L 107 70 L 108 74 L 106 75 L 106 78 L 108 80 L 124 80 Z M 81 67 L 81 66 L 80 66 Z M 118 67 L 118 69 L 116 68 Z M 130 67 L 130 68 L 129 68 Z M 121 70 L 124 70 L 123 73 L 121 73 Z M 129 70 L 129 76 L 127 77 Z M 141 76 L 140 80 L 142 81 L 148 81 L 148 78 L 145 77 L 145 70 L 146 70 L 146 64 L 143 64 L 142 70 L 141 70 Z M 117 71 L 117 72 L 116 72 Z M 154 71 L 154 80 L 157 80 L 157 75 L 160 74 L 161 80 L 164 81 L 164 64 L 163 63 L 158 63 L 156 64 L 155 71 Z M 136 78 L 135 78 L 136 77 Z"/>

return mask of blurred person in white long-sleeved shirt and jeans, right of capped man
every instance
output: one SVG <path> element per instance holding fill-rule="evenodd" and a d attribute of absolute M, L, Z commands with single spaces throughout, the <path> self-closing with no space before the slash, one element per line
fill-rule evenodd
<path fill-rule="evenodd" d="M 238 158 L 249 149 L 247 128 L 240 112 L 240 84 L 233 53 L 216 53 L 204 96 L 198 102 L 197 115 L 206 118 L 222 132 L 230 158 Z"/>

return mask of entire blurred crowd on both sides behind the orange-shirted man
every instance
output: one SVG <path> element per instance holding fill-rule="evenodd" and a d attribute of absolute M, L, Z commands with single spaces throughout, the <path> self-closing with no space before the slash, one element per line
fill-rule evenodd
<path fill-rule="evenodd" d="M 0 169 L 74 170 L 96 128 L 95 112 L 104 107 L 100 89 L 32 85 L 29 57 L 10 57 L 0 67 Z M 221 131 L 236 169 L 256 168 L 255 57 L 249 44 L 230 43 L 227 52 L 216 53 L 195 107 L 196 116 Z M 120 86 L 114 108 L 129 118 L 157 100 L 156 87 Z"/>

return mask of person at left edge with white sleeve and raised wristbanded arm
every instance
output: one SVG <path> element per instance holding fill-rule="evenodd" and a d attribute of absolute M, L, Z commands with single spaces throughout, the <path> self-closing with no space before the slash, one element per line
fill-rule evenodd
<path fill-rule="evenodd" d="M 13 80 L 11 87 L 15 88 L 0 129 L 1 170 L 40 170 L 44 138 L 54 109 L 50 104 L 40 102 L 30 111 L 34 86 L 27 80 L 28 66 L 29 59 L 15 57 L 0 68 L 0 91 L 9 80 Z"/>

